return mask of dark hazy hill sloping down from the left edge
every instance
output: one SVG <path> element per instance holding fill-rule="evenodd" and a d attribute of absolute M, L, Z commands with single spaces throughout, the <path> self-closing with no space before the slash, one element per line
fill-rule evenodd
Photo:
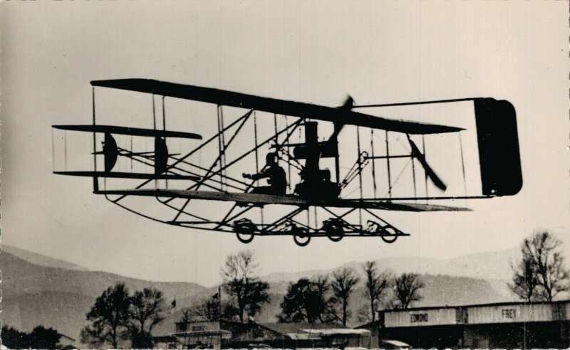
<path fill-rule="evenodd" d="M 95 298 L 115 282 L 125 282 L 130 290 L 158 288 L 169 302 L 174 297 L 190 299 L 206 289 L 190 282 L 151 282 L 108 272 L 46 267 L 30 263 L 6 250 L 0 254 L 0 265 L 3 277 L 2 323 L 27 332 L 42 324 L 74 339 L 79 338 L 81 328 L 86 324 L 85 315 Z"/>

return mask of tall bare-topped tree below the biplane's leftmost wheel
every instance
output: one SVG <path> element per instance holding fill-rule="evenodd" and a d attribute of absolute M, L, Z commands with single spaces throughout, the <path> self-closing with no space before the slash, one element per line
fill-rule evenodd
<path fill-rule="evenodd" d="M 234 299 L 240 322 L 244 322 L 246 310 L 254 316 L 261 309 L 261 304 L 269 302 L 269 285 L 255 277 L 257 267 L 251 250 L 228 255 L 222 267 L 224 290 Z"/>

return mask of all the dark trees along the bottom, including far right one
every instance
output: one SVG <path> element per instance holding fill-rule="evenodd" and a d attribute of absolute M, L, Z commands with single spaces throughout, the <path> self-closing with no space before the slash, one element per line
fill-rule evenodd
<path fill-rule="evenodd" d="M 561 240 L 548 231 L 539 231 L 524 239 L 522 260 L 512 264 L 509 288 L 515 295 L 528 302 L 552 301 L 561 292 L 570 290 L 569 272 L 564 267 L 560 245 Z M 269 283 L 257 276 L 258 268 L 251 250 L 229 255 L 221 269 L 223 283 L 219 292 L 183 309 L 182 321 L 248 322 L 271 301 Z M 358 321 L 375 322 L 380 309 L 407 309 L 423 299 L 421 290 L 425 284 L 418 274 L 393 275 L 380 270 L 374 261 L 363 263 L 359 269 L 360 273 L 355 268 L 341 267 L 328 275 L 290 282 L 276 318 L 279 322 L 346 326 L 353 316 L 358 317 Z M 366 307 L 353 315 L 349 304 L 357 291 L 366 299 Z M 118 283 L 105 290 L 86 314 L 90 324 L 83 328 L 81 341 L 117 348 L 120 341 L 130 340 L 133 348 L 150 348 L 152 329 L 174 307 L 175 302 L 168 305 L 160 290 L 145 288 L 130 294 L 124 283 Z M 8 329 L 6 334 L 16 333 Z M 24 338 L 16 334 L 11 339 Z"/>

